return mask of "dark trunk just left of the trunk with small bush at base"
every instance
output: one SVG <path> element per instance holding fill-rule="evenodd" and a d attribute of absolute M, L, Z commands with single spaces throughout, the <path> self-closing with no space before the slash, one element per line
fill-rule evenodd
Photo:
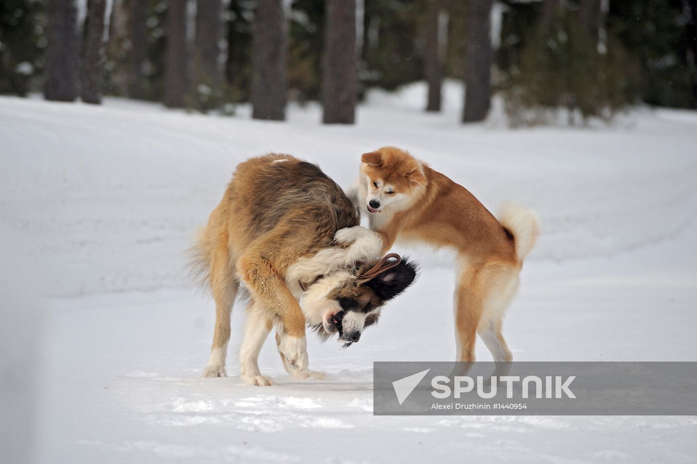
<path fill-rule="evenodd" d="M 187 84 L 186 3 L 187 0 L 170 0 L 167 11 L 164 106 L 168 108 L 185 106 Z"/>

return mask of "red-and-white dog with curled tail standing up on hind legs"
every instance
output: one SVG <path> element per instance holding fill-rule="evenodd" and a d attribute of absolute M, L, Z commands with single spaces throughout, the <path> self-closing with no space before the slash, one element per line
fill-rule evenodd
<path fill-rule="evenodd" d="M 501 325 L 523 258 L 539 235 L 535 212 L 508 205 L 496 219 L 464 187 L 394 147 L 362 155 L 360 176 L 347 193 L 369 213 L 383 250 L 399 240 L 457 252 L 457 360 L 474 361 L 478 332 L 496 362 L 510 362 Z"/>

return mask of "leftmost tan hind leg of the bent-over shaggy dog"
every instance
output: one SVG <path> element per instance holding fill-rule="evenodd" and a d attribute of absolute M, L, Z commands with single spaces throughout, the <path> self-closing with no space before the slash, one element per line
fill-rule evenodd
<path fill-rule="evenodd" d="M 225 377 L 225 358 L 230 341 L 230 316 L 240 282 L 235 275 L 227 244 L 223 240 L 217 243 L 210 259 L 209 279 L 215 300 L 215 332 L 204 377 Z"/>

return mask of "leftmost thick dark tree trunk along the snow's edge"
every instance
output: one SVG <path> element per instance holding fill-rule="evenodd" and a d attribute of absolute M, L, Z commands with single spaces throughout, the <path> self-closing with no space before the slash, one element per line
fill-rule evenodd
<path fill-rule="evenodd" d="M 72 102 L 79 88 L 75 0 L 50 0 L 46 50 L 46 100 Z"/>

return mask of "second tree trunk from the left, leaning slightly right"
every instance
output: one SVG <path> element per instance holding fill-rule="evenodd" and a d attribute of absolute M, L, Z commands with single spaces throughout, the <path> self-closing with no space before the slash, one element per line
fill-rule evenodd
<path fill-rule="evenodd" d="M 100 105 L 104 83 L 104 15 L 106 0 L 89 0 L 82 57 L 82 101 Z"/>

